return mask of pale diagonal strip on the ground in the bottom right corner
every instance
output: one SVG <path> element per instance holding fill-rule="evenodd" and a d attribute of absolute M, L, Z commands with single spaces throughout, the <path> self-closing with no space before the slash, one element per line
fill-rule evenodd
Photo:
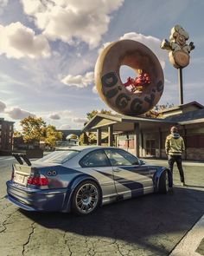
<path fill-rule="evenodd" d="M 175 246 L 175 249 L 169 256 L 201 256 L 200 253 L 196 253 L 201 240 L 204 238 L 204 215 L 201 219 L 188 231 L 188 233 L 182 238 L 180 243 Z"/>

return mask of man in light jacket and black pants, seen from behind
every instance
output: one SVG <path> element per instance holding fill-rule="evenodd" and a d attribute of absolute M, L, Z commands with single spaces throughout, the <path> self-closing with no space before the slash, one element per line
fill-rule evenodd
<path fill-rule="evenodd" d="M 179 170 L 181 185 L 185 186 L 182 169 L 182 152 L 185 150 L 185 145 L 182 136 L 178 134 L 178 129 L 175 126 L 170 129 L 170 135 L 166 138 L 165 150 L 168 155 L 169 169 L 172 174 L 169 175 L 169 187 L 173 186 L 173 167 L 175 162 Z"/>

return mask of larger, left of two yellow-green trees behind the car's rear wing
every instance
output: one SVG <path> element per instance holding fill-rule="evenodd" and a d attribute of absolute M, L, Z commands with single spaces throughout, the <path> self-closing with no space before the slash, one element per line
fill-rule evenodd
<path fill-rule="evenodd" d="M 22 126 L 22 138 L 26 143 L 40 142 L 44 135 L 44 128 L 46 122 L 41 117 L 30 116 L 22 119 L 20 122 Z"/>

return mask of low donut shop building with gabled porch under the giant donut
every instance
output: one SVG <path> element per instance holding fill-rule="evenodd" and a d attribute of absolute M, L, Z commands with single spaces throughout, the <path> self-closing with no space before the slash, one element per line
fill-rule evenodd
<path fill-rule="evenodd" d="M 86 123 L 82 132 L 96 132 L 98 145 L 105 132 L 108 146 L 124 148 L 137 157 L 163 159 L 166 136 L 176 126 L 186 145 L 183 159 L 204 161 L 204 106 L 189 102 L 164 109 L 162 114 L 163 118 L 98 114 Z"/>

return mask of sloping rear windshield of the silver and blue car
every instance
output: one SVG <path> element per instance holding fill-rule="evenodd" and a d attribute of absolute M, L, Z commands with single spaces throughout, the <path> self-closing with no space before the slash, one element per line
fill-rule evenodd
<path fill-rule="evenodd" d="M 41 161 L 51 161 L 55 163 L 64 163 L 74 155 L 79 154 L 79 150 L 66 150 L 66 151 L 54 151 L 44 157 L 41 158 Z"/>

